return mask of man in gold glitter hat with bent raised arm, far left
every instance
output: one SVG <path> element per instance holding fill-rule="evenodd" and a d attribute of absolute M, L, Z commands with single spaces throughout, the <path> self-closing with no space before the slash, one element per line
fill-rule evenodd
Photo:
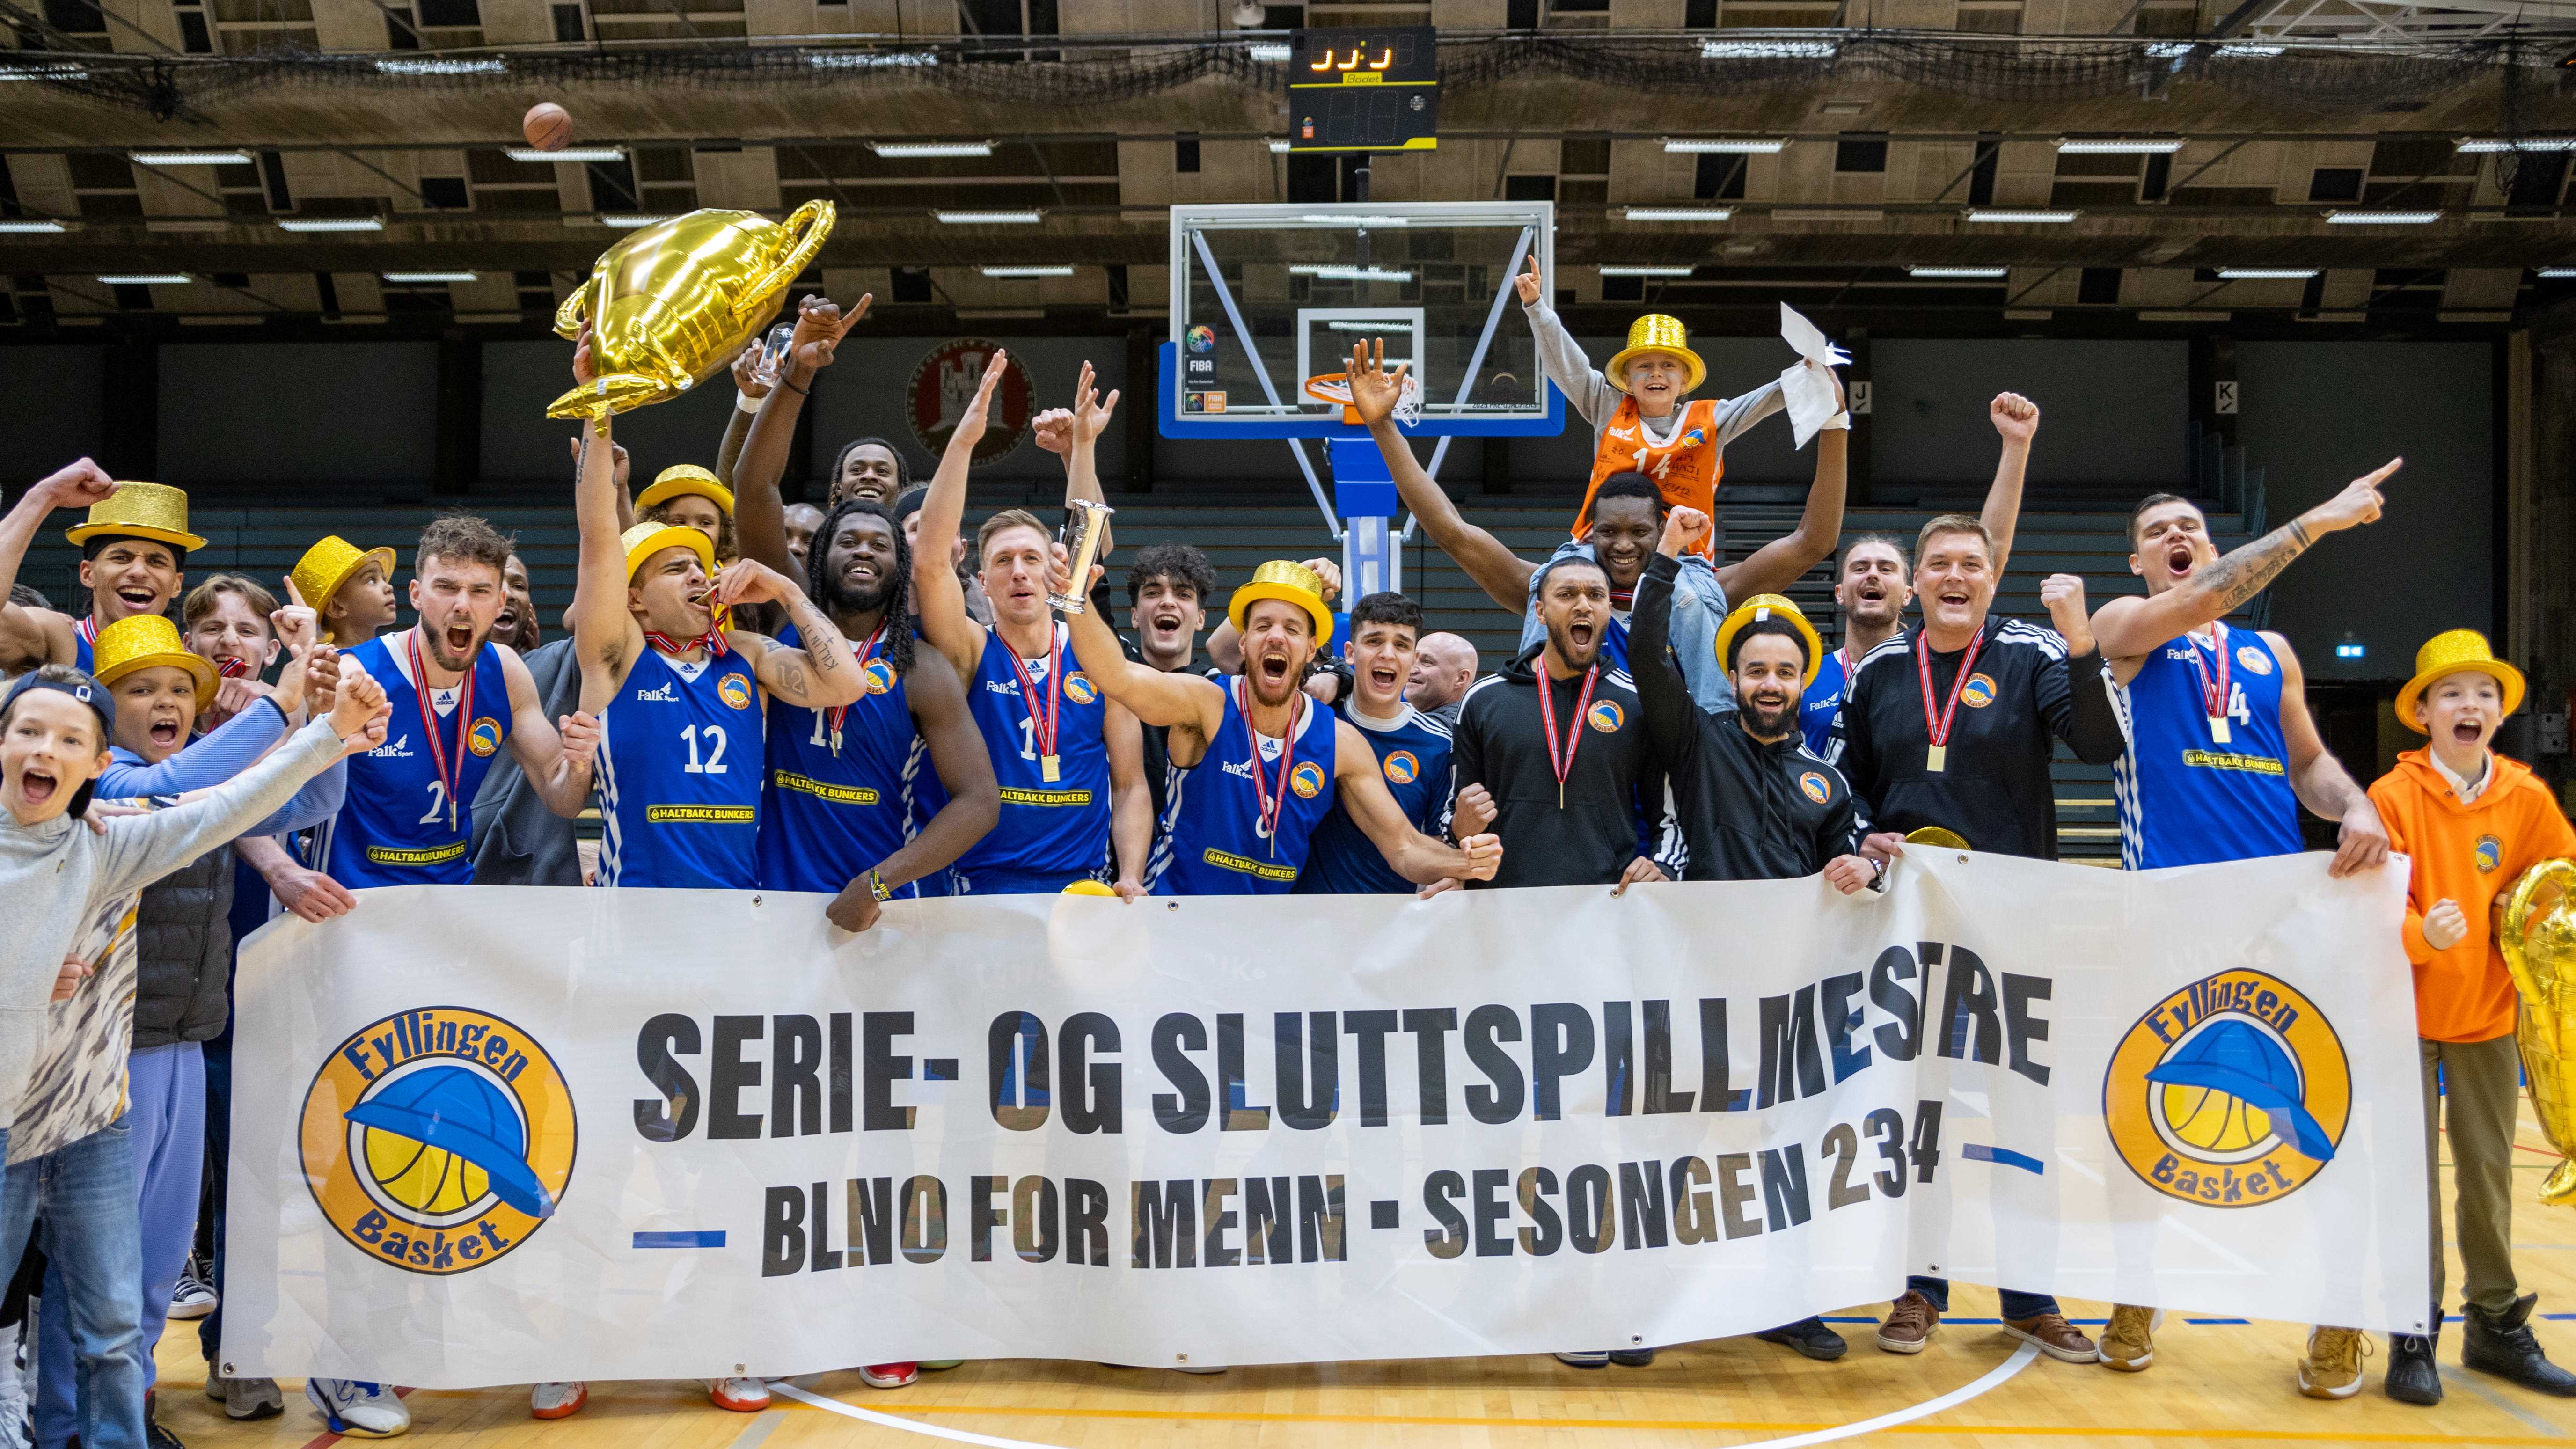
<path fill-rule="evenodd" d="M 134 614 L 167 614 L 188 580 L 188 549 L 206 539 L 188 531 L 188 495 L 160 482 L 116 482 L 90 459 L 39 480 L 0 516 L 0 590 L 18 583 L 36 529 L 57 508 L 88 508 L 70 534 L 80 544 L 80 583 L 90 616 L 0 603 L 0 670 L 28 665 L 90 668 L 98 632 Z"/>

